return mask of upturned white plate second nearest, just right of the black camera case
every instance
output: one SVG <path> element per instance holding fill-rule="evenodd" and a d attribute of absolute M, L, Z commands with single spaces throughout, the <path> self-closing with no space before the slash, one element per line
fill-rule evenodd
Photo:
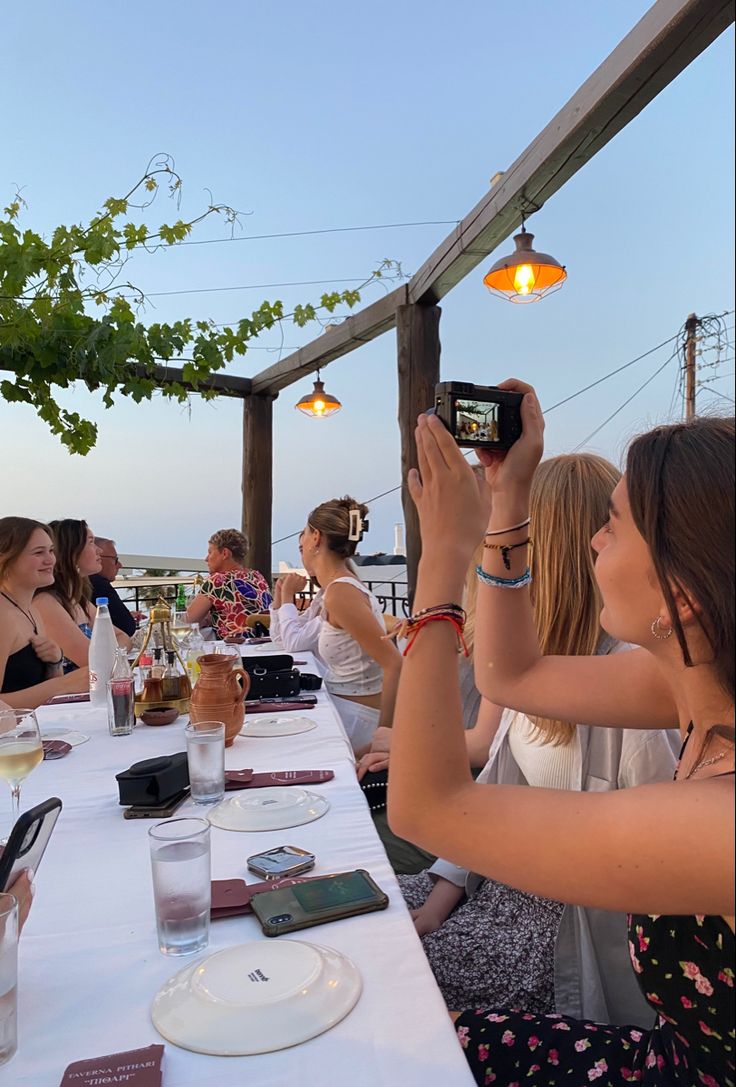
<path fill-rule="evenodd" d="M 329 801 L 319 792 L 289 785 L 246 789 L 226 797 L 207 817 L 223 830 L 285 830 L 312 823 L 328 811 Z"/>

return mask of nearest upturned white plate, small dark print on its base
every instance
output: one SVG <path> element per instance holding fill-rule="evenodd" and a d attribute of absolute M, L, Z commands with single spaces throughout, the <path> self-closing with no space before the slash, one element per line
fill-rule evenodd
<path fill-rule="evenodd" d="M 185 966 L 153 999 L 166 1041 L 245 1057 L 298 1046 L 350 1012 L 363 983 L 350 959 L 300 940 L 251 940 Z"/>

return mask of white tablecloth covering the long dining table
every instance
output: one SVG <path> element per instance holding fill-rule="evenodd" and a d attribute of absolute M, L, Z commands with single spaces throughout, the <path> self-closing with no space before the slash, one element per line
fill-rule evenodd
<path fill-rule="evenodd" d="M 308 654 L 305 671 L 315 671 Z M 108 735 L 104 711 L 88 703 L 43 707 L 41 728 L 66 726 L 90 737 L 66 758 L 41 763 L 23 786 L 22 807 L 61 797 L 63 811 L 36 877 L 21 939 L 18 1051 L 0 1085 L 58 1087 L 71 1061 L 162 1041 L 149 1016 L 163 983 L 192 959 L 158 949 L 147 832 L 124 820 L 115 774 L 140 759 L 184 750 L 184 719 Z M 328 696 L 308 715 L 316 728 L 270 739 L 238 737 L 228 769 L 334 770 L 313 787 L 329 800 L 321 820 L 290 830 L 235 834 L 212 828 L 212 877 L 255 877 L 246 858 L 280 844 L 314 852 L 315 875 L 365 867 L 388 894 L 381 913 L 295 933 L 339 949 L 358 965 L 363 994 L 332 1030 L 302 1046 L 257 1057 L 214 1058 L 166 1042 L 164 1087 L 463 1087 L 473 1083 L 357 784 L 352 752 Z M 8 790 L 0 820 L 10 823 Z M 202 814 L 188 802 L 177 814 Z M 210 951 L 264 939 L 252 915 L 212 923 Z M 288 939 L 288 936 L 279 939 Z"/>

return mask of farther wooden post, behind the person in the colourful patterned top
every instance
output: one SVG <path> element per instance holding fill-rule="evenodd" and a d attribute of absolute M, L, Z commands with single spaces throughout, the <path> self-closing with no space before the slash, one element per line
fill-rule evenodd
<path fill-rule="evenodd" d="M 273 513 L 273 396 L 242 401 L 242 534 L 246 565 L 271 584 Z"/>

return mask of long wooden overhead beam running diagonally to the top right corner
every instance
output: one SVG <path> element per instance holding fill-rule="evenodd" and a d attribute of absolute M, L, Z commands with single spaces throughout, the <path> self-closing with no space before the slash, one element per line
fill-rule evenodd
<path fill-rule="evenodd" d="M 409 284 L 253 377 L 276 392 L 396 324 L 396 310 L 433 303 L 485 260 L 649 104 L 734 21 L 733 0 L 657 0 L 467 214 Z"/>

